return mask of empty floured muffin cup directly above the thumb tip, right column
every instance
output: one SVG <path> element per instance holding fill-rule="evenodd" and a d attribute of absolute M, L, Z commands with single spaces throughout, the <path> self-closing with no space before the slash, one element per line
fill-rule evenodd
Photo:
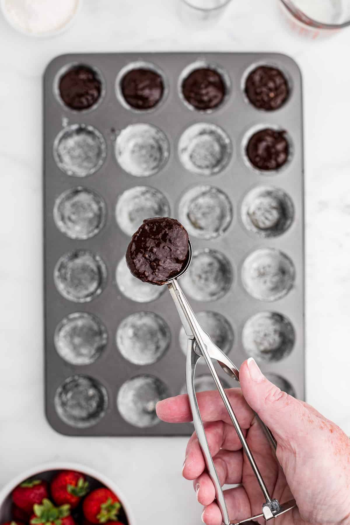
<path fill-rule="evenodd" d="M 287 317 L 277 312 L 259 312 L 245 323 L 242 331 L 243 348 L 259 362 L 275 362 L 292 351 L 295 333 Z"/>

